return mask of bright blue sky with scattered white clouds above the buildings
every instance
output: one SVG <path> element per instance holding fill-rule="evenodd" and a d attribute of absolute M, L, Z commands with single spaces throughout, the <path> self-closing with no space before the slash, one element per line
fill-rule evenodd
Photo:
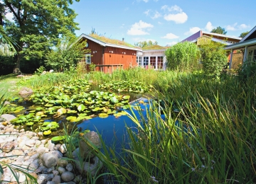
<path fill-rule="evenodd" d="M 162 46 L 217 26 L 239 36 L 256 25 L 255 7 L 255 0 L 80 0 L 71 6 L 78 13 L 78 36 L 95 28 L 107 38 Z"/>

